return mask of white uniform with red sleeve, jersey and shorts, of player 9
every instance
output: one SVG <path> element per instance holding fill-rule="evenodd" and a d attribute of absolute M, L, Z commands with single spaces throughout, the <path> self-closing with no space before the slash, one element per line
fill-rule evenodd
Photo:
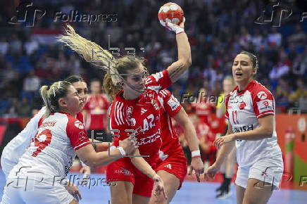
<path fill-rule="evenodd" d="M 2 202 L 70 203 L 73 196 L 60 181 L 70 170 L 75 151 L 89 144 L 83 123 L 71 115 L 54 113 L 40 120 L 30 147 L 8 174 Z M 25 187 L 29 192 L 21 193 Z"/>

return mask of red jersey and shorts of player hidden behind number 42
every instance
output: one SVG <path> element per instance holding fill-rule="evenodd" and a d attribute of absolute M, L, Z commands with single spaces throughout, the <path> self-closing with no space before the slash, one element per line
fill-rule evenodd
<path fill-rule="evenodd" d="M 184 177 L 187 175 L 187 159 L 184 156 L 178 135 L 173 129 L 172 118 L 182 106 L 173 94 L 163 89 L 158 93 L 158 100 L 161 103 L 161 138 L 162 146 L 159 151 L 158 167 L 156 172 L 164 170 L 174 174 L 180 180 L 180 189 Z"/>

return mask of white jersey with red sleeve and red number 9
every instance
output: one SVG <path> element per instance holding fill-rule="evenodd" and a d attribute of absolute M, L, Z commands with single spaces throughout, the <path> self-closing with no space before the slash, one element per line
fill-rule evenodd
<path fill-rule="evenodd" d="M 91 143 L 82 122 L 66 113 L 51 114 L 40 120 L 37 134 L 8 178 L 64 178 L 75 151 L 88 144 Z"/>

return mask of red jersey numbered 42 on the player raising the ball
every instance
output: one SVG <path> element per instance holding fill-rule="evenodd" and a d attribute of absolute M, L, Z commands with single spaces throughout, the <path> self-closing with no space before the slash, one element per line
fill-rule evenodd
<path fill-rule="evenodd" d="M 161 147 L 161 123 L 158 91 L 171 84 L 168 71 L 163 70 L 146 79 L 145 91 L 134 100 L 125 100 L 123 90 L 116 94 L 110 107 L 110 129 L 114 135 L 114 145 L 118 146 L 120 140 L 126 139 L 130 134 L 137 137 L 137 145 L 141 155 L 149 155 L 144 159 L 150 165 L 156 164 L 158 150 Z M 116 162 L 130 163 L 130 158 L 122 158 Z"/>

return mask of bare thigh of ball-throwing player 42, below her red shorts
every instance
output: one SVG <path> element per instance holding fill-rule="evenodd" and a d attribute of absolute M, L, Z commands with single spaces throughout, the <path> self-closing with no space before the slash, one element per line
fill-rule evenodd
<path fill-rule="evenodd" d="M 132 204 L 133 184 L 129 181 L 112 181 L 111 186 L 112 204 Z"/>

